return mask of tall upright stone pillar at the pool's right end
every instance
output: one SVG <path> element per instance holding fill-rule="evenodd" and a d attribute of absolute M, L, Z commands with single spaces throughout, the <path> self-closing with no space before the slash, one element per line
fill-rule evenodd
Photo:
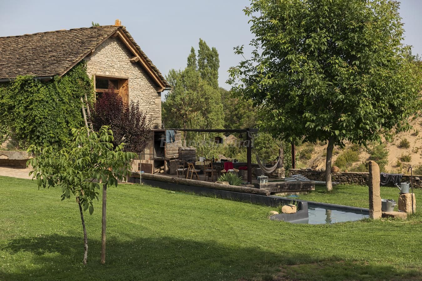
<path fill-rule="evenodd" d="M 369 161 L 369 217 L 381 218 L 381 195 L 379 189 L 380 176 L 379 166 L 374 161 Z"/>

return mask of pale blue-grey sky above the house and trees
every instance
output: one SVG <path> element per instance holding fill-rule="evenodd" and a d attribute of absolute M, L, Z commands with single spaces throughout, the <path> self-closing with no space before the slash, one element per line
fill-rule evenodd
<path fill-rule="evenodd" d="M 413 46 L 413 54 L 422 54 L 422 0 L 401 2 L 404 43 Z M 241 61 L 240 56 L 233 54 L 233 47 L 248 45 L 253 37 L 248 17 L 242 11 L 249 3 L 249 0 L 0 0 L 0 37 L 89 27 L 92 21 L 110 25 L 120 19 L 163 75 L 172 68 L 186 67 L 191 46 L 197 50 L 202 38 L 219 52 L 219 85 L 229 89 L 225 83 L 227 70 Z"/>

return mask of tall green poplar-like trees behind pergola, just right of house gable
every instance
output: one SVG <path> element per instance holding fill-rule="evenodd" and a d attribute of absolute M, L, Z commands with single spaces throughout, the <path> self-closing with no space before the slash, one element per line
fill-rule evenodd
<path fill-rule="evenodd" d="M 192 47 L 187 58 L 187 67 L 168 72 L 166 79 L 172 90 L 162 103 L 162 119 L 167 128 L 223 128 L 224 113 L 218 88 L 218 67 L 218 52 L 200 40 L 198 56 Z M 199 140 L 203 136 L 185 134 L 185 139 L 189 138 Z"/>

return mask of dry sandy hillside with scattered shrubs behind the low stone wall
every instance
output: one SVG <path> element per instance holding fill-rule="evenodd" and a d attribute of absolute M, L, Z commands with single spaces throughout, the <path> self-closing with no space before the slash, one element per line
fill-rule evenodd
<path fill-rule="evenodd" d="M 388 151 L 388 163 L 384 171 L 404 173 L 407 171 L 409 165 L 422 165 L 422 118 L 412 119 L 410 120 L 410 123 L 413 126 L 411 131 L 396 134 L 392 142 L 386 142 L 383 140 L 383 144 L 386 145 L 386 149 Z M 408 148 L 400 146 L 402 139 L 407 139 L 409 142 Z M 298 167 L 312 167 L 314 169 L 325 168 L 326 148 L 327 145 L 322 142 L 315 145 L 302 144 L 298 146 L 297 150 L 300 153 Z M 344 149 L 335 147 L 333 152 L 333 163 L 339 155 L 344 153 L 345 150 L 350 150 L 352 148 L 352 144 L 349 142 L 346 143 L 346 147 Z M 354 148 L 354 150 L 356 150 L 356 148 Z M 359 154 L 359 159 L 349 165 L 349 171 L 356 170 L 356 167 L 359 166 L 359 164 L 362 162 L 365 163 L 369 160 L 368 158 L 370 155 L 364 147 L 360 147 L 360 149 L 357 150 L 357 154 Z M 410 155 L 410 161 L 408 161 L 408 155 Z"/>

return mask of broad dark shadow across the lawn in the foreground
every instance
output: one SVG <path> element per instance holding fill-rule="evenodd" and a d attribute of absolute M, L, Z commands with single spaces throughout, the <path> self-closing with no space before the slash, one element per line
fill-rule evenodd
<path fill-rule="evenodd" d="M 204 238 L 205 240 L 205 238 Z M 19 270 L 0 272 L 2 280 L 273 280 L 274 278 L 363 280 L 412 279 L 421 272 L 392 264 L 341 263 L 341 257 L 272 253 L 258 247 L 230 247 L 213 241 L 176 238 L 108 238 L 106 264 L 100 241 L 89 241 L 88 264 L 81 263 L 81 239 L 51 235 L 18 238 L 5 251 Z M 283 279 L 282 279 L 283 280 Z"/>

